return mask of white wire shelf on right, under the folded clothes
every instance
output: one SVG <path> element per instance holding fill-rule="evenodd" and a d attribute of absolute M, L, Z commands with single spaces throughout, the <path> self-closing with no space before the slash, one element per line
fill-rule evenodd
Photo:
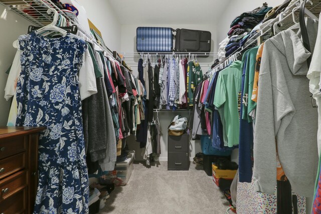
<path fill-rule="evenodd" d="M 291 3 L 285 9 L 285 11 L 279 14 L 277 18 L 271 21 L 268 21 L 269 23 L 266 26 L 264 26 L 262 29 L 260 29 L 256 34 L 254 34 L 251 38 L 249 38 L 243 47 L 240 47 L 237 50 L 235 50 L 229 57 L 227 57 L 225 60 L 220 62 L 220 64 L 217 65 L 214 69 L 220 67 L 222 64 L 224 65 L 225 61 L 229 61 L 233 57 L 235 58 L 235 55 L 237 59 L 240 59 L 242 56 L 242 53 L 244 53 L 248 49 L 251 49 L 257 46 L 258 40 L 261 42 L 264 42 L 267 39 L 269 39 L 274 25 L 276 25 L 276 28 L 278 31 L 284 31 L 290 28 L 291 26 L 295 25 L 296 23 L 298 23 L 299 7 L 301 2 L 302 0 L 297 0 Z M 306 10 L 311 12 L 311 14 L 313 14 L 315 17 L 318 17 L 319 13 L 321 12 L 321 0 L 309 1 L 309 3 L 306 4 L 305 8 Z"/>

